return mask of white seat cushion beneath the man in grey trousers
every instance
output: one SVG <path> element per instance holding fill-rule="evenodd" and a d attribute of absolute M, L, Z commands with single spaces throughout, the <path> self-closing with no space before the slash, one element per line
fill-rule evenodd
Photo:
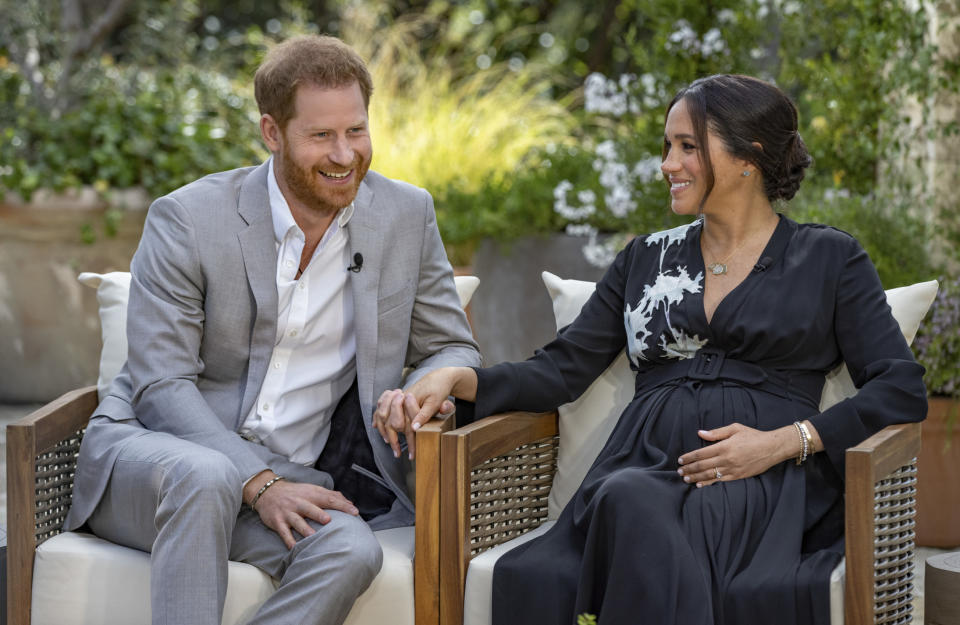
<path fill-rule="evenodd" d="M 345 625 L 414 625 L 412 527 L 376 532 L 383 568 Z M 223 625 L 246 623 L 275 584 L 254 566 L 230 562 Z M 150 625 L 150 554 L 91 534 L 65 532 L 37 548 L 33 625 Z"/>

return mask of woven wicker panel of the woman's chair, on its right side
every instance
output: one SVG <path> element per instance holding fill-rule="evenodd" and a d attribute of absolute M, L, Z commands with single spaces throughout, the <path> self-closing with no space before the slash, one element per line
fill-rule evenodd
<path fill-rule="evenodd" d="M 874 622 L 913 621 L 916 460 L 874 486 Z"/>

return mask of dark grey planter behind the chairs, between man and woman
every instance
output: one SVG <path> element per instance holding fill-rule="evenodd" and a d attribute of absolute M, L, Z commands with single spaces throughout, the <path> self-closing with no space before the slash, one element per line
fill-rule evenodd
<path fill-rule="evenodd" d="M 553 305 L 540 274 L 549 271 L 561 278 L 599 280 L 604 269 L 584 258 L 587 241 L 556 234 L 480 243 L 473 260 L 480 286 L 470 307 L 485 366 L 529 358 L 556 336 Z"/>

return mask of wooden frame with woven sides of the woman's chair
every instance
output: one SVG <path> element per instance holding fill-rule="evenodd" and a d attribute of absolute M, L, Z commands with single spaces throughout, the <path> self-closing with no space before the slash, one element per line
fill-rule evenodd
<path fill-rule="evenodd" d="M 494 415 L 441 439 L 440 623 L 459 625 L 470 559 L 546 520 L 558 416 Z M 845 625 L 912 622 L 919 452 L 919 423 L 846 452 Z"/>

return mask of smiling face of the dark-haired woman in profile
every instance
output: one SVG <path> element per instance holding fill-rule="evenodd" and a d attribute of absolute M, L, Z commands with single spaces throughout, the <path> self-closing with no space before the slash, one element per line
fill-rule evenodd
<path fill-rule="evenodd" d="M 744 169 L 754 169 L 731 156 L 709 124 L 706 134 L 707 145 L 700 145 L 687 104 L 682 98 L 678 100 L 667 114 L 664 158 L 660 164 L 664 178 L 670 183 L 670 208 L 678 215 L 697 215 L 701 207 L 702 212 L 709 213 L 714 207 L 736 201 L 736 196 L 744 193 L 748 186 L 747 178 L 741 173 Z M 701 156 L 704 149 L 709 153 L 706 165 Z"/>

